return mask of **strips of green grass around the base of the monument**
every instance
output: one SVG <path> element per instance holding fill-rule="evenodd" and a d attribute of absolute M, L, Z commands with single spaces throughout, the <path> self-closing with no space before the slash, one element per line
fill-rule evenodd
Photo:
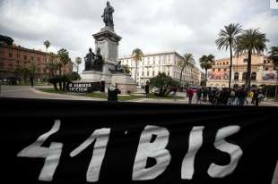
<path fill-rule="evenodd" d="M 86 97 L 93 97 L 93 98 L 100 98 L 100 99 L 107 99 L 108 96 L 106 93 L 99 93 L 99 92 L 93 92 L 93 93 L 86 93 L 86 94 L 73 94 L 73 93 L 67 93 L 65 91 L 61 90 L 55 90 L 54 88 L 37 88 L 38 90 L 46 93 L 56 93 L 56 94 L 65 94 L 65 95 L 76 95 L 76 96 L 86 96 Z M 118 96 L 119 101 L 128 101 L 128 100 L 135 100 L 135 99 L 141 99 L 145 98 L 145 96 L 135 96 L 135 95 L 127 95 L 127 96 Z M 162 100 L 172 100 L 173 97 L 171 95 L 169 96 L 155 96 L 154 94 L 149 94 L 148 98 L 150 99 L 162 99 Z M 177 96 L 178 99 L 184 99 L 182 96 Z"/>

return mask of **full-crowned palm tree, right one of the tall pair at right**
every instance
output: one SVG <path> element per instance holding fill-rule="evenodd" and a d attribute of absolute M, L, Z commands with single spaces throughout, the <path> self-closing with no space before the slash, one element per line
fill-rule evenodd
<path fill-rule="evenodd" d="M 268 42 L 268 39 L 266 39 L 265 33 L 261 33 L 258 29 L 244 30 L 237 39 L 236 54 L 239 55 L 248 52 L 248 71 L 246 79 L 248 90 L 250 90 L 251 86 L 250 75 L 252 54 L 264 53 L 264 51 L 266 50 L 266 42 Z"/>

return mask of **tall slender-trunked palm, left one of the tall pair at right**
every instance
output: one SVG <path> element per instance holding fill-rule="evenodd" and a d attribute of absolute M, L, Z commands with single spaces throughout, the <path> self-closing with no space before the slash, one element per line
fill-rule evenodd
<path fill-rule="evenodd" d="M 239 33 L 242 31 L 241 25 L 239 23 L 233 24 L 230 23 L 228 26 L 225 26 L 224 29 L 220 30 L 218 34 L 218 39 L 216 39 L 215 43 L 218 50 L 230 48 L 230 77 L 229 77 L 229 88 L 230 88 L 230 80 L 231 80 L 231 67 L 232 67 L 232 50 L 237 43 L 237 38 L 239 37 Z"/>

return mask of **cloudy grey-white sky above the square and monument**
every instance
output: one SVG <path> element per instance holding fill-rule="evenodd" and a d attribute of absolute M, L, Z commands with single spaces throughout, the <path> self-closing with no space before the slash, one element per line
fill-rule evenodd
<path fill-rule="evenodd" d="M 115 31 L 122 37 L 119 55 L 139 47 L 143 53 L 190 52 L 229 57 L 215 46 L 224 25 L 240 23 L 243 29 L 260 28 L 278 46 L 278 10 L 269 0 L 110 0 L 114 6 Z M 65 47 L 74 61 L 88 48 L 92 34 L 104 27 L 101 14 L 106 0 L 0 0 L 0 34 L 15 44 L 48 51 Z M 83 67 L 83 66 L 82 66 Z"/>

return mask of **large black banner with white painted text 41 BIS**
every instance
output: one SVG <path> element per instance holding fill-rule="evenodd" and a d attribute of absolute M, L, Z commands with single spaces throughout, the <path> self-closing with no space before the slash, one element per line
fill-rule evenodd
<path fill-rule="evenodd" d="M 4 183 L 271 183 L 275 107 L 0 98 Z"/>

